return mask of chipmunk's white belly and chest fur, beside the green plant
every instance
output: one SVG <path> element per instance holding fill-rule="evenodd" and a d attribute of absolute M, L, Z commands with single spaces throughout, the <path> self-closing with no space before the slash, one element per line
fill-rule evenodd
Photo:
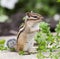
<path fill-rule="evenodd" d="M 39 26 L 34 26 L 32 30 L 39 29 Z M 27 35 L 27 42 L 26 45 L 24 46 L 24 51 L 30 51 L 34 45 L 34 36 L 36 35 L 37 32 L 30 33 Z"/>

